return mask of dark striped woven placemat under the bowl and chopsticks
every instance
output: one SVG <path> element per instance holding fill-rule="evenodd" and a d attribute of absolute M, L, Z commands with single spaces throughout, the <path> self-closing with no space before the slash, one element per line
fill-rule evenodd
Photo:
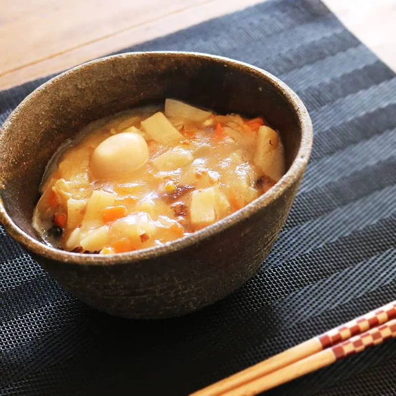
<path fill-rule="evenodd" d="M 77 301 L 0 229 L 1 395 L 185 395 L 396 297 L 396 77 L 319 1 L 275 0 L 132 50 L 195 50 L 269 70 L 315 136 L 258 274 L 184 317 L 132 321 Z M 0 93 L 0 122 L 43 80 Z M 266 395 L 395 395 L 396 343 Z"/>

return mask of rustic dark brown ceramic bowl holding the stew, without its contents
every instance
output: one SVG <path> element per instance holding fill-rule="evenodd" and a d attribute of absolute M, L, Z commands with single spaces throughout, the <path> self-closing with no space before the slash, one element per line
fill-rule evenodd
<path fill-rule="evenodd" d="M 43 244 L 32 227 L 32 213 L 56 148 L 91 121 L 167 97 L 220 113 L 264 116 L 282 135 L 287 173 L 246 207 L 161 247 L 104 256 Z M 227 296 L 254 275 L 288 216 L 311 145 L 305 106 L 264 70 L 199 53 L 109 56 L 49 80 L 2 126 L 0 221 L 50 275 L 87 304 L 129 318 L 181 315 Z"/>

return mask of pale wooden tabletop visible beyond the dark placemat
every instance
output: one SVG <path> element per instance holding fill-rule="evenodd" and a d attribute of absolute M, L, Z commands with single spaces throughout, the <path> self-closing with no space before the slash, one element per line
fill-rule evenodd
<path fill-rule="evenodd" d="M 0 90 L 260 2 L 1 1 Z M 396 70 L 396 0 L 324 2 Z"/>

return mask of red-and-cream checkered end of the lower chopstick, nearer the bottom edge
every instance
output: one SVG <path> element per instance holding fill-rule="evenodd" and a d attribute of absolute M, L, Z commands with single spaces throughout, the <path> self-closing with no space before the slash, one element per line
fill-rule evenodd
<path fill-rule="evenodd" d="M 396 319 L 393 319 L 379 327 L 371 329 L 358 336 L 332 347 L 336 360 L 342 359 L 352 353 L 361 352 L 367 347 L 381 344 L 392 337 L 396 337 Z"/>

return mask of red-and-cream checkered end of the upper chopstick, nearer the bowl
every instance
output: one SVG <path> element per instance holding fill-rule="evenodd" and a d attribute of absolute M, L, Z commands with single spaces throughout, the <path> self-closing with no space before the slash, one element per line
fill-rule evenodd
<path fill-rule="evenodd" d="M 317 339 L 325 349 L 395 318 L 396 301 L 393 301 L 380 309 L 366 313 L 345 325 L 332 329 L 318 336 Z"/>

